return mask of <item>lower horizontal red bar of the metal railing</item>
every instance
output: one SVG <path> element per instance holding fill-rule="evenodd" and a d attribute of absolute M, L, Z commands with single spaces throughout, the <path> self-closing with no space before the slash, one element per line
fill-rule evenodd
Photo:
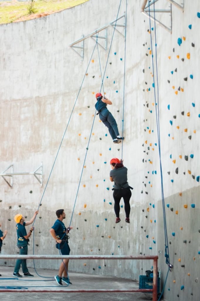
<path fill-rule="evenodd" d="M 26 285 L 25 285 L 26 287 Z M 153 292 L 153 289 L 138 289 L 138 290 L 68 290 L 67 288 L 65 290 L 6 290 L 6 289 L 0 289 L 0 292 L 4 293 L 149 293 Z"/>

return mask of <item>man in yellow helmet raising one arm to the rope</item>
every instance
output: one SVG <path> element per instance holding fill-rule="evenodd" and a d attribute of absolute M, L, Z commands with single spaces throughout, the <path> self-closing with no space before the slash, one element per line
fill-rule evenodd
<path fill-rule="evenodd" d="M 22 214 L 17 214 L 14 217 L 14 220 L 16 222 L 16 228 L 17 228 L 17 247 L 20 249 L 19 255 L 27 255 L 28 254 L 28 242 L 29 237 L 32 234 L 32 231 L 34 230 L 34 227 L 31 227 L 28 234 L 26 232 L 25 226 L 31 225 L 38 214 L 38 211 L 35 211 L 32 219 L 30 219 L 29 222 L 25 222 L 25 218 L 22 216 Z M 28 271 L 28 268 L 26 266 L 26 259 L 17 259 L 15 268 L 14 268 L 14 277 L 22 277 L 22 275 L 19 274 L 20 266 L 22 265 L 22 272 L 24 273 L 24 276 L 26 277 L 33 277 Z"/>

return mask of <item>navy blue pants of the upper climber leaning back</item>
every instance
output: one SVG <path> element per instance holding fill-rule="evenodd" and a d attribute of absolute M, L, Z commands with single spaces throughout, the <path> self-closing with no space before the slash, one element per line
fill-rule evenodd
<path fill-rule="evenodd" d="M 117 128 L 117 122 L 114 119 L 113 115 L 111 114 L 111 112 L 108 111 L 107 108 L 103 109 L 100 113 L 99 113 L 99 118 L 101 119 L 101 121 L 105 124 L 105 126 L 107 126 L 108 131 L 112 137 L 112 139 L 114 140 L 117 136 L 119 136 L 119 131 Z"/>

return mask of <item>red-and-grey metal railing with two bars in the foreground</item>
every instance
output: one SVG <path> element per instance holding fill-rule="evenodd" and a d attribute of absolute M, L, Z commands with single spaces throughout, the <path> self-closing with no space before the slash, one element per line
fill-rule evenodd
<path fill-rule="evenodd" d="M 149 260 L 153 259 L 153 289 L 91 289 L 91 290 L 24 290 L 24 289 L 0 289 L 0 292 L 7 293 L 153 293 L 153 301 L 157 300 L 157 260 L 158 256 L 89 256 L 89 255 L 0 255 L 0 259 L 109 259 L 109 260 Z"/>

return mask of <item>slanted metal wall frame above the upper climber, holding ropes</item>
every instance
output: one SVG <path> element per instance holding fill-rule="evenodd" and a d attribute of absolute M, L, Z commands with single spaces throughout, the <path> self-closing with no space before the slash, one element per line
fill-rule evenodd
<path fill-rule="evenodd" d="M 120 19 L 122 19 L 122 18 L 124 18 L 124 24 L 119 24 L 119 23 L 117 23 L 117 21 L 120 20 Z M 101 28 L 98 28 L 98 29 L 94 30 L 94 31 L 93 31 L 92 33 L 90 33 L 89 35 L 87 35 L 87 36 L 82 35 L 82 38 L 80 38 L 80 39 L 78 39 L 78 40 L 72 42 L 71 44 L 69 44 L 69 47 L 71 47 L 72 50 L 74 50 L 74 51 L 81 57 L 81 59 L 82 59 L 82 61 L 83 61 L 83 58 L 84 58 L 84 40 L 86 40 L 86 39 L 88 39 L 88 38 L 92 38 L 92 39 L 95 40 L 95 42 L 96 42 L 96 39 L 97 39 L 98 45 L 100 45 L 100 46 L 106 51 L 106 50 L 107 50 L 107 28 L 108 28 L 109 26 L 114 26 L 115 29 L 116 29 L 117 26 L 119 26 L 119 27 L 124 27 L 124 34 L 121 33 L 118 29 L 116 29 L 116 30 L 117 30 L 120 34 L 122 34 L 123 36 L 125 36 L 125 32 L 126 32 L 125 24 L 126 24 L 126 14 L 124 13 L 121 17 L 119 17 L 119 18 L 113 20 L 113 21 L 110 22 L 109 24 L 106 24 L 106 25 L 102 26 Z M 100 32 L 102 32 L 103 30 L 104 30 L 104 33 L 102 33 L 101 36 L 99 36 L 99 35 L 97 36 L 97 33 L 100 33 Z M 98 40 L 98 39 L 100 39 L 100 40 Z M 103 42 L 100 42 L 100 41 L 103 41 Z M 81 46 L 75 46 L 76 44 L 79 44 L 80 42 L 83 42 L 83 43 L 81 44 Z M 81 54 L 80 54 L 78 51 L 76 51 L 74 48 L 80 48 L 80 49 L 82 49 Z"/>

